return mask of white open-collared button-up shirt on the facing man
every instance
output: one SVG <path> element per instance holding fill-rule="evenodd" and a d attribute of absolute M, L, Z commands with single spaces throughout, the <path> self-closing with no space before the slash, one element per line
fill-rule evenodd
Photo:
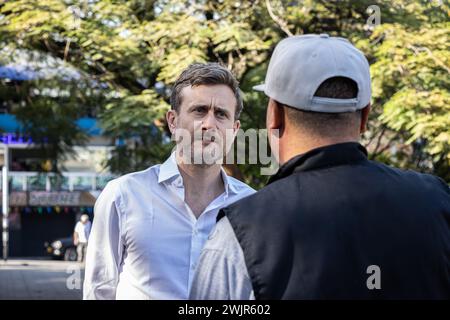
<path fill-rule="evenodd" d="M 187 299 L 220 208 L 254 192 L 228 177 L 197 219 L 173 153 L 162 165 L 110 181 L 94 207 L 84 299 Z"/>

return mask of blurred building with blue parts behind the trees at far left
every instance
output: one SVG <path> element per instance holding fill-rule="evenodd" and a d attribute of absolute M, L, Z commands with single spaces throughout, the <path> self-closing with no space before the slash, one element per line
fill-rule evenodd
<path fill-rule="evenodd" d="M 0 66 L 0 78 L 26 81 L 32 76 Z M 111 139 L 102 135 L 95 118 L 81 118 L 77 125 L 89 134 L 88 143 L 74 148 L 74 155 L 62 163 L 64 172 L 43 173 L 36 168 L 46 156 L 33 137 L 19 133 L 14 115 L 0 113 L 0 166 L 4 164 L 1 149 L 5 145 L 9 149 L 10 256 L 42 256 L 46 241 L 70 237 L 81 214 L 92 219 L 97 196 L 113 178 L 104 169 L 113 148 Z"/>

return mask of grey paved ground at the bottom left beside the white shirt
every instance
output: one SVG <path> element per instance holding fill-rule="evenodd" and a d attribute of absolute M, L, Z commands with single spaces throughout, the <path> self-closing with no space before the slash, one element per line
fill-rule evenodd
<path fill-rule="evenodd" d="M 83 266 L 76 262 L 0 260 L 0 299 L 78 300 L 83 274 Z"/>

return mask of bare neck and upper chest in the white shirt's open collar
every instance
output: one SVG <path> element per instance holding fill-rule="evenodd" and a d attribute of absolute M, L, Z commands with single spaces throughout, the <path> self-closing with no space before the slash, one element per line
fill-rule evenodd
<path fill-rule="evenodd" d="M 177 161 L 183 177 L 184 199 L 198 218 L 224 190 L 220 165 L 194 165 Z"/>

